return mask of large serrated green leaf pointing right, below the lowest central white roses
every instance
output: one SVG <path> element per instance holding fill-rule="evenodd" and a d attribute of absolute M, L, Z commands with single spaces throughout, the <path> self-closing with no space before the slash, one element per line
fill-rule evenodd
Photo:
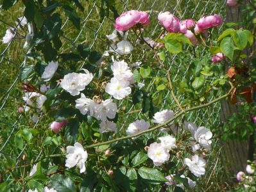
<path fill-rule="evenodd" d="M 141 168 L 139 168 L 138 173 L 142 177 L 142 179 L 146 179 L 149 182 L 160 183 L 160 182 L 167 181 L 163 173 L 154 168 L 148 168 L 148 167 L 142 166 Z"/>

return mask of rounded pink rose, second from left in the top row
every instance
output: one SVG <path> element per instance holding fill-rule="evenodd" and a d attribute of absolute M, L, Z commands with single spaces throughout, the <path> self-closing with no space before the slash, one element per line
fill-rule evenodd
<path fill-rule="evenodd" d="M 166 31 L 173 33 L 180 32 L 180 20 L 170 12 L 160 12 L 158 15 L 158 20 L 160 24 L 164 26 Z"/>

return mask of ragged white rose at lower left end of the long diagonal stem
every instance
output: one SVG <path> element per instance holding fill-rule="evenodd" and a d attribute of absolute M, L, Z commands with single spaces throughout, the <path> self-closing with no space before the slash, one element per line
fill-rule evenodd
<path fill-rule="evenodd" d="M 73 146 L 67 146 L 67 155 L 66 155 L 66 161 L 65 166 L 67 168 L 73 168 L 74 166 L 77 166 L 80 168 L 80 173 L 85 172 L 85 161 L 87 161 L 87 151 L 83 149 L 83 146 L 76 142 Z"/>

